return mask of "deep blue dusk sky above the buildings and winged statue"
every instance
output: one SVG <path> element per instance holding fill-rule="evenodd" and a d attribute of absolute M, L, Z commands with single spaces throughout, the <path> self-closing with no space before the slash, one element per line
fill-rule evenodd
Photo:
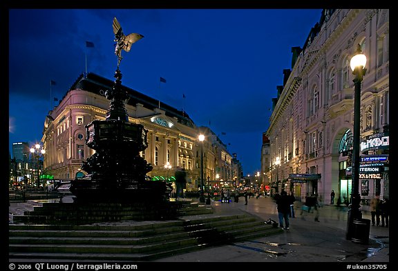
<path fill-rule="evenodd" d="M 88 72 L 114 79 L 116 17 L 124 34 L 144 35 L 122 52 L 124 86 L 184 109 L 197 126 L 220 134 L 245 175 L 260 170 L 262 133 L 283 69 L 292 68 L 291 48 L 303 47 L 321 18 L 320 9 L 9 11 L 11 153 L 13 142 L 40 141 L 51 100 L 85 71 L 86 57 Z"/>

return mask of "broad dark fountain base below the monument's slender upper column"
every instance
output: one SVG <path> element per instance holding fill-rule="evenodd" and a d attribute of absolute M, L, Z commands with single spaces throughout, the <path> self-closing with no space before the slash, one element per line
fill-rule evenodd
<path fill-rule="evenodd" d="M 86 126 L 88 147 L 96 150 L 75 179 L 70 192 L 79 203 L 135 203 L 167 201 L 171 188 L 164 181 L 149 181 L 152 166 L 140 157 L 147 148 L 144 126 L 123 120 L 93 121 Z"/>

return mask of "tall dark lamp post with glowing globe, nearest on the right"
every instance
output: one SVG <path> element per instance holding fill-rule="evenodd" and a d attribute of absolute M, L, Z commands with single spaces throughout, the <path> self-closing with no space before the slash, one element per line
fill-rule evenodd
<path fill-rule="evenodd" d="M 359 139 L 360 139 L 360 114 L 361 114 L 361 82 L 366 74 L 366 56 L 362 54 L 361 46 L 358 44 L 357 51 L 350 61 L 354 82 L 354 132 L 352 148 L 352 195 L 351 207 L 348 210 L 346 239 L 352 239 L 354 219 L 361 219 L 361 195 L 359 194 Z"/>

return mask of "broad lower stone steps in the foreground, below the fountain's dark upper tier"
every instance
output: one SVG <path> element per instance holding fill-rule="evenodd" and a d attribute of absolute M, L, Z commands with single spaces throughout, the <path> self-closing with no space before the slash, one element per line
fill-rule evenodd
<path fill-rule="evenodd" d="M 9 261 L 151 261 L 281 232 L 251 214 L 189 214 L 162 221 L 9 224 Z"/>

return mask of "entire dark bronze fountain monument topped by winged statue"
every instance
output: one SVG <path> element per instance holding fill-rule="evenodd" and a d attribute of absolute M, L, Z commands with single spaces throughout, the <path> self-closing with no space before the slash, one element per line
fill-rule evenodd
<path fill-rule="evenodd" d="M 148 181 L 146 173 L 152 170 L 139 152 L 148 147 L 147 130 L 141 124 L 129 123 L 124 102 L 129 93 L 122 90 L 122 73 L 119 66 L 122 50 L 129 52 L 141 34 L 124 35 L 120 23 L 113 19 L 117 69 L 111 90 L 106 90 L 110 106 L 104 121 L 95 120 L 86 126 L 86 145 L 95 154 L 82 165 L 86 177 L 75 179 L 70 192 L 75 202 L 133 203 L 142 201 L 167 201 L 169 188 L 163 181 Z"/>

